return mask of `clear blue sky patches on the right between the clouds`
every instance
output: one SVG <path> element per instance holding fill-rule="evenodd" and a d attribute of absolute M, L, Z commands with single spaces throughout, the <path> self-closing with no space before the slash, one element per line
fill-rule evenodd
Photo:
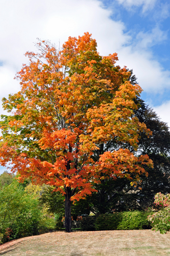
<path fill-rule="evenodd" d="M 170 70 L 170 4 L 164 0 L 105 0 L 105 8 L 112 9 L 112 20 L 125 24 L 124 32 L 137 43 L 145 37 L 147 50 L 163 70 Z M 144 39 L 144 38 L 143 38 Z M 128 45 L 128 43 L 127 43 Z M 170 87 L 161 91 L 145 91 L 141 97 L 150 105 L 160 106 L 170 100 Z M 165 122 L 169 120 L 164 119 Z"/>

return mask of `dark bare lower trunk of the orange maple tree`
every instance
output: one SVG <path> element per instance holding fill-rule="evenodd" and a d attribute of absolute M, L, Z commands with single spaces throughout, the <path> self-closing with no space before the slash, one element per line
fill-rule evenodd
<path fill-rule="evenodd" d="M 71 224 L 72 224 L 72 217 L 71 217 L 71 188 L 65 188 L 65 228 L 66 232 L 72 232 Z"/>

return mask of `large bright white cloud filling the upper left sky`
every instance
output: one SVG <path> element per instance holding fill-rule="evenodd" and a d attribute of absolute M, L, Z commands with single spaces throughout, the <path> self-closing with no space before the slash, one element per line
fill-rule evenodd
<path fill-rule="evenodd" d="M 98 0 L 1 0 L 0 7 L 0 98 L 17 92 L 13 77 L 27 62 L 24 53 L 35 50 L 37 37 L 62 45 L 69 36 L 89 31 L 101 53 L 105 47 L 114 52 L 130 38 L 124 24 L 111 20 L 111 10 Z"/>

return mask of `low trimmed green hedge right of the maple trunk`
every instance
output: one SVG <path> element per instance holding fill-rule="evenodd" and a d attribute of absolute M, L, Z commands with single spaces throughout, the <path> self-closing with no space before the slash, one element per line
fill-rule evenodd
<path fill-rule="evenodd" d="M 95 221 L 95 230 L 139 230 L 150 229 L 147 220 L 148 212 L 115 212 L 114 214 L 99 215 Z"/>

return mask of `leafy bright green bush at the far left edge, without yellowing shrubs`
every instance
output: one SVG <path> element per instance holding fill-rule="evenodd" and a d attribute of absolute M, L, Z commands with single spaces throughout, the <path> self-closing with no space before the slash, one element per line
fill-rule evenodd
<path fill-rule="evenodd" d="M 37 235 L 41 211 L 38 200 L 27 195 L 14 181 L 0 191 L 0 233 L 2 242 Z"/>

